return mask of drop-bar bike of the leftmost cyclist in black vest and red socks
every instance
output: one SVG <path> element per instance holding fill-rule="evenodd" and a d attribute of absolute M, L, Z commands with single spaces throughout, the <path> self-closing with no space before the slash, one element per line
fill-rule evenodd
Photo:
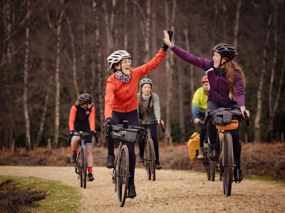
<path fill-rule="evenodd" d="M 92 134 L 79 131 L 78 134 L 70 135 L 69 140 L 68 140 L 68 143 L 70 143 L 71 138 L 73 136 L 80 136 L 79 154 L 77 156 L 77 160 L 75 164 L 75 173 L 78 174 L 80 187 L 83 187 L 83 188 L 86 188 L 86 180 L 88 179 L 88 175 L 87 175 L 88 160 L 87 160 L 87 152 L 86 152 L 86 146 L 85 146 L 87 135 L 92 135 Z M 95 138 L 96 138 L 96 142 L 98 143 L 98 138 L 96 136 Z"/>

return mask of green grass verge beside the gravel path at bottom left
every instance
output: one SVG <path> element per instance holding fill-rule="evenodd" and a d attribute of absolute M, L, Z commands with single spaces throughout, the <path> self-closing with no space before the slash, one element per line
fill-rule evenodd
<path fill-rule="evenodd" d="M 25 212 L 79 212 L 79 200 L 81 195 L 72 187 L 61 184 L 60 181 L 51 181 L 35 177 L 17 177 L 17 176 L 2 176 L 0 175 L 0 183 L 12 180 L 10 182 L 10 190 L 4 189 L 2 193 L 13 193 L 23 191 L 29 192 L 44 192 L 47 196 L 40 201 L 35 201 L 36 205 L 32 207 L 23 205 L 22 211 Z M 12 189 L 11 189 L 12 186 Z M 3 212 L 0 210 L 0 212 Z"/>

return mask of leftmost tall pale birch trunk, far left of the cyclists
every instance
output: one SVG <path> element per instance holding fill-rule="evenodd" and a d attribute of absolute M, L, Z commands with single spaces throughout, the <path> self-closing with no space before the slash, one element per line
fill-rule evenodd
<path fill-rule="evenodd" d="M 31 137 L 30 137 L 30 117 L 28 112 L 28 81 L 29 81 L 29 37 L 30 37 L 30 1 L 27 2 L 27 27 L 26 27 L 26 51 L 25 51 L 25 63 L 24 63 L 24 115 L 26 123 L 26 149 L 31 150 Z"/>

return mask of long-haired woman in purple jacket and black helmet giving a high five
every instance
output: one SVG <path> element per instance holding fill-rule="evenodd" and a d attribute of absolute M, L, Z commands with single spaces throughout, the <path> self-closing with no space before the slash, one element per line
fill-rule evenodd
<path fill-rule="evenodd" d="M 165 33 L 164 33 L 165 34 Z M 166 33 L 167 34 L 167 33 Z M 236 49 L 228 44 L 221 43 L 214 47 L 214 56 L 212 60 L 199 58 L 191 55 L 189 52 L 175 46 L 170 42 L 165 34 L 164 42 L 171 50 L 184 61 L 203 69 L 208 77 L 209 94 L 207 101 L 207 110 L 214 111 L 220 107 L 238 106 L 244 116 L 245 110 L 245 75 L 241 67 L 233 61 L 238 56 Z M 245 110 L 249 116 L 248 110 Z M 215 161 L 218 159 L 218 147 L 216 143 L 217 130 L 216 126 L 208 122 L 208 136 L 210 139 L 210 159 Z M 232 131 L 234 161 L 234 181 L 241 181 L 241 141 L 239 132 L 241 124 Z M 214 139 L 214 140 L 213 140 Z"/>

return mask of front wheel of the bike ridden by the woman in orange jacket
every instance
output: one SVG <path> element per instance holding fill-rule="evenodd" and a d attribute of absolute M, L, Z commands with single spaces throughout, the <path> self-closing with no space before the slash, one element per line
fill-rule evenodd
<path fill-rule="evenodd" d="M 121 148 L 120 158 L 118 159 L 117 176 L 118 201 L 119 205 L 123 207 L 127 197 L 129 177 L 129 155 L 128 147 L 126 145 L 123 145 Z"/>

